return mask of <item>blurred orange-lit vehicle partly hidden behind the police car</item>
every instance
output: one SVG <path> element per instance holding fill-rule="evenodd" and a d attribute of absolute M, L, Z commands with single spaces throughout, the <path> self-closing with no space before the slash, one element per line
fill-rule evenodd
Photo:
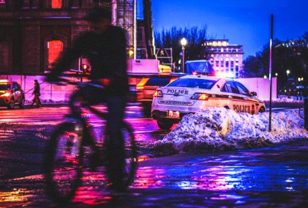
<path fill-rule="evenodd" d="M 136 101 L 142 103 L 146 116 L 151 115 L 153 95 L 157 87 L 163 87 L 184 75 L 184 73 L 158 73 L 146 76 L 140 80 L 140 82 L 136 85 Z"/>

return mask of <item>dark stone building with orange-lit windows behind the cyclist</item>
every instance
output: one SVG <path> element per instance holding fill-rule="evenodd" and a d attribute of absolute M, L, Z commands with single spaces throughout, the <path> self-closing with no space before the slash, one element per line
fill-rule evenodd
<path fill-rule="evenodd" d="M 93 1 L 0 0 L 0 73 L 39 74 L 82 31 Z M 72 68 L 78 67 L 78 60 Z"/>

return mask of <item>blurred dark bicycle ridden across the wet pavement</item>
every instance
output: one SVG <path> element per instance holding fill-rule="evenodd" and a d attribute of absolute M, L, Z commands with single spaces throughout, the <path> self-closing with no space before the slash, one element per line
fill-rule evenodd
<path fill-rule="evenodd" d="M 105 120 L 107 120 L 107 113 L 100 112 L 86 101 L 80 101 L 80 95 L 78 95 L 79 90 L 83 89 L 83 87 L 90 85 L 91 87 L 102 88 L 101 85 L 75 83 L 64 78 L 60 78 L 56 84 L 63 85 L 61 83 L 75 85 L 78 90 L 71 96 L 69 102 L 71 113 L 65 116 L 65 121 L 57 126 L 47 141 L 43 168 L 47 195 L 57 202 L 68 202 L 75 196 L 75 192 L 80 187 L 83 169 L 87 168 L 87 164 L 91 163 L 91 160 L 87 161 L 87 157 L 85 157 L 87 154 L 85 153 L 89 152 L 92 160 L 101 161 L 96 166 L 106 167 L 107 162 L 105 153 L 108 144 L 107 135 L 103 134 L 105 138 L 102 139 L 101 144 L 97 142 L 92 144 L 90 141 L 94 141 L 93 135 L 87 125 L 88 118 L 82 114 L 84 112 L 82 110 L 87 108 L 90 112 Z M 125 139 L 123 187 L 127 188 L 134 180 L 138 159 L 134 132 L 129 123 L 123 121 L 122 132 Z M 87 146 L 91 147 L 92 152 Z M 99 154 L 93 154 L 94 149 Z M 106 168 L 104 173 L 106 173 Z"/>

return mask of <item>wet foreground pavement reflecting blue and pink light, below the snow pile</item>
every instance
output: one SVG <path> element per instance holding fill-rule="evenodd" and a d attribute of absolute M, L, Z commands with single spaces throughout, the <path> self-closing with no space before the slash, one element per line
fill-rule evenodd
<path fill-rule="evenodd" d="M 0 181 L 0 207 L 307 207 L 308 140 L 139 162 L 126 193 L 105 189 L 105 175 L 84 170 L 67 205 L 46 197 L 42 175 Z"/>

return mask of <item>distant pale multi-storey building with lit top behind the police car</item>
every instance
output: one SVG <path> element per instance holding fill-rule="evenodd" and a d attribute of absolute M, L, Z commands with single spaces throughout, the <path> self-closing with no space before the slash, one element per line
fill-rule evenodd
<path fill-rule="evenodd" d="M 243 69 L 243 46 L 229 44 L 229 40 L 208 40 L 204 43 L 210 54 L 210 64 L 216 73 L 239 78 Z"/>

